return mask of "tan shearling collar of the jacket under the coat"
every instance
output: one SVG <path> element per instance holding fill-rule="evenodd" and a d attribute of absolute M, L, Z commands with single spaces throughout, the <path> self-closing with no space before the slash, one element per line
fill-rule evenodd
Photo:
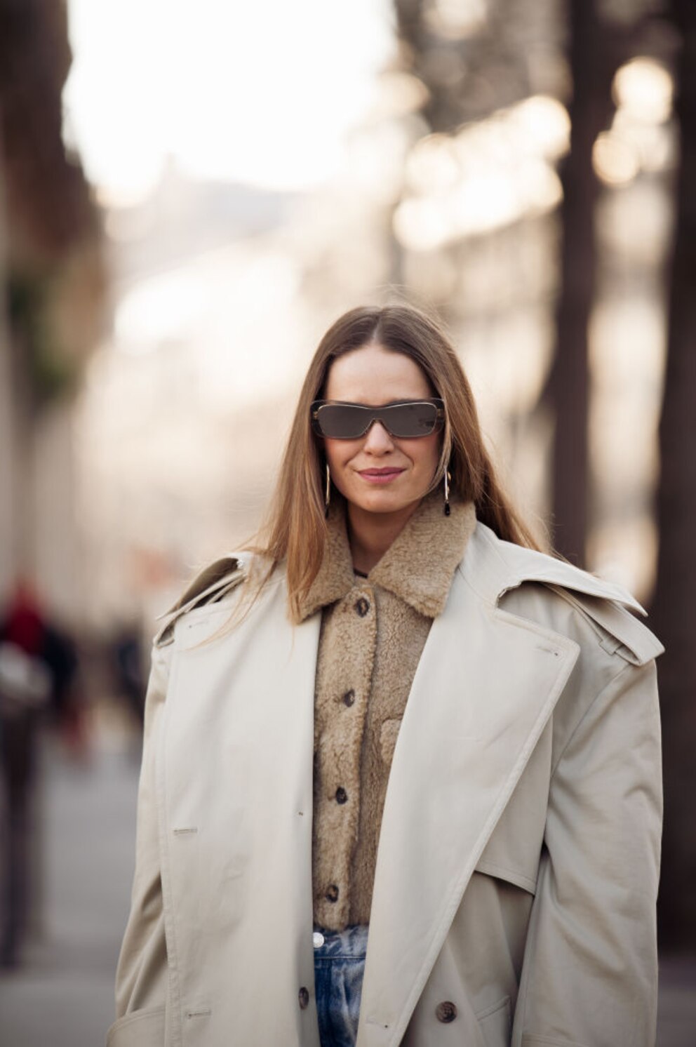
<path fill-rule="evenodd" d="M 388 589 L 427 618 L 436 618 L 444 609 L 452 575 L 476 526 L 473 503 L 452 500 L 451 507 L 445 516 L 440 491 L 424 498 L 367 576 L 368 584 Z M 342 499 L 332 504 L 328 527 L 319 573 L 300 601 L 302 621 L 355 585 Z"/>

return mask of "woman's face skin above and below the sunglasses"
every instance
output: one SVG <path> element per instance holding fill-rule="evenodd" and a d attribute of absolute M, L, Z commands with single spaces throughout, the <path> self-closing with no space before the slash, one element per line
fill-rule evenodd
<path fill-rule="evenodd" d="M 334 360 L 327 400 L 383 406 L 433 396 L 419 364 L 403 353 L 369 342 Z M 353 509 L 400 513 L 414 509 L 432 484 L 440 461 L 440 433 L 391 437 L 376 421 L 357 440 L 324 438 L 331 478 Z"/>

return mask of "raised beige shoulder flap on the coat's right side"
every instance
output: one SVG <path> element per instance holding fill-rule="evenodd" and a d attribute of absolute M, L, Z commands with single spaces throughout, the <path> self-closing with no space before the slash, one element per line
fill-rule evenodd
<path fill-rule="evenodd" d="M 619 654 L 633 665 L 645 665 L 663 653 L 659 640 L 630 612 L 646 614 L 623 586 L 544 553 L 509 542 L 500 545 L 514 580 L 499 596 L 527 581 L 541 582 L 584 616 L 608 653 Z"/>

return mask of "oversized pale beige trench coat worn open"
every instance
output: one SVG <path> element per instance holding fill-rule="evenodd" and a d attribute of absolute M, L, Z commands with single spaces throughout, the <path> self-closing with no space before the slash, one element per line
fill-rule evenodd
<path fill-rule="evenodd" d="M 242 574 L 215 565 L 154 648 L 109 1047 L 318 1047 L 320 615 L 293 628 L 278 573 L 201 646 Z M 394 755 L 359 1047 L 654 1043 L 661 647 L 625 604 L 477 525 Z"/>

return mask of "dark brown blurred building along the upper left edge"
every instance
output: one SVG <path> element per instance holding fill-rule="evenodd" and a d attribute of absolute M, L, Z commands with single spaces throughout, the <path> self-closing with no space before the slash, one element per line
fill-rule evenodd
<path fill-rule="evenodd" d="M 82 618 L 71 401 L 102 322 L 97 211 L 62 137 L 63 2 L 0 2 L 0 599 Z"/>

